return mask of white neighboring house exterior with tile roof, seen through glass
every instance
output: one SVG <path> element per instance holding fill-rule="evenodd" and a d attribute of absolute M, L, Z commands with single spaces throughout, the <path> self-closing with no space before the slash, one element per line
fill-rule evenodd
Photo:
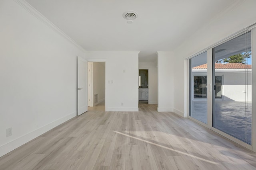
<path fill-rule="evenodd" d="M 192 100 L 206 99 L 207 64 L 192 68 Z M 242 63 L 215 64 L 215 98 L 224 101 L 252 101 L 252 65 Z M 248 96 L 246 95 L 248 94 Z"/>

